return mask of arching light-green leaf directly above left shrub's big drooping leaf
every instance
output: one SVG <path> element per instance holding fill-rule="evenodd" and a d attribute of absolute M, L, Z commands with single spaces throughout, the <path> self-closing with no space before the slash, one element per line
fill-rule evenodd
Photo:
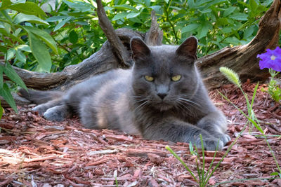
<path fill-rule="evenodd" d="M 53 52 L 58 55 L 58 48 L 52 36 L 50 36 L 50 34 L 45 32 L 44 30 L 38 29 L 37 27 L 24 27 L 24 28 L 27 29 L 29 32 L 32 32 L 33 34 L 38 36 L 39 39 L 46 42 L 46 44 L 53 50 Z"/>

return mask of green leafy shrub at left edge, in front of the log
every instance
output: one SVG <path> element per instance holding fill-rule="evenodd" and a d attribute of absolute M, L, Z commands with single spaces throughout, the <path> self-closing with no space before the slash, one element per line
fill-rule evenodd
<path fill-rule="evenodd" d="M 0 95 L 17 111 L 11 95 L 11 88 L 4 82 L 4 75 L 13 83 L 26 88 L 11 64 L 20 67 L 28 67 L 37 71 L 49 72 L 51 69 L 51 56 L 48 53 L 49 46 L 54 53 L 57 52 L 55 41 L 40 25 L 48 25 L 41 18 L 45 17 L 44 11 L 33 2 L 4 0 L 0 3 Z M 46 43 L 46 44 L 45 44 Z M 34 61 L 37 62 L 34 65 Z M 5 63 L 4 63 L 5 62 Z M 11 63 L 11 64 L 10 64 Z M 0 105 L 2 115 L 2 107 Z M 1 117 L 0 115 L 0 117 Z"/>

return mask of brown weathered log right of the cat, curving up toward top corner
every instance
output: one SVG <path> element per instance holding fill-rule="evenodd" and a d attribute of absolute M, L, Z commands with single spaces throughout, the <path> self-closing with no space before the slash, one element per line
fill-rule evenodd
<path fill-rule="evenodd" d="M 220 67 L 229 67 L 239 74 L 242 82 L 265 81 L 268 69 L 259 69 L 259 60 L 256 55 L 264 53 L 266 48 L 275 48 L 279 40 L 281 28 L 281 2 L 273 1 L 269 10 L 259 22 L 259 32 L 254 39 L 244 46 L 223 48 L 216 53 L 201 57 L 197 66 L 204 77 L 204 83 L 209 89 L 218 88 L 228 81 L 219 72 Z"/>

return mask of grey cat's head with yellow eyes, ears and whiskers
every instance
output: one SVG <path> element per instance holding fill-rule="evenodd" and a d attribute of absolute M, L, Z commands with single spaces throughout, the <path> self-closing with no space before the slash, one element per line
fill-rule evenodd
<path fill-rule="evenodd" d="M 185 107 L 200 78 L 195 67 L 197 39 L 190 36 L 181 46 L 147 46 L 134 37 L 131 50 L 135 102 L 160 111 Z"/>

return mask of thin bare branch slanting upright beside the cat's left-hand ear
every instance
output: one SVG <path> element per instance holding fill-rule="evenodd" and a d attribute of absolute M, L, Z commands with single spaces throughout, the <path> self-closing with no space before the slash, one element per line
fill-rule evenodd
<path fill-rule="evenodd" d="M 112 51 L 116 55 L 117 60 L 122 65 L 122 67 L 131 67 L 133 61 L 131 60 L 131 56 L 129 55 L 129 51 L 122 44 L 121 40 L 118 38 L 115 33 L 115 29 L 113 28 L 110 20 L 108 20 L 105 9 L 103 8 L 103 4 L 101 0 L 96 1 L 98 8 L 98 23 L 100 28 L 103 29 L 107 40 L 112 45 Z"/>

